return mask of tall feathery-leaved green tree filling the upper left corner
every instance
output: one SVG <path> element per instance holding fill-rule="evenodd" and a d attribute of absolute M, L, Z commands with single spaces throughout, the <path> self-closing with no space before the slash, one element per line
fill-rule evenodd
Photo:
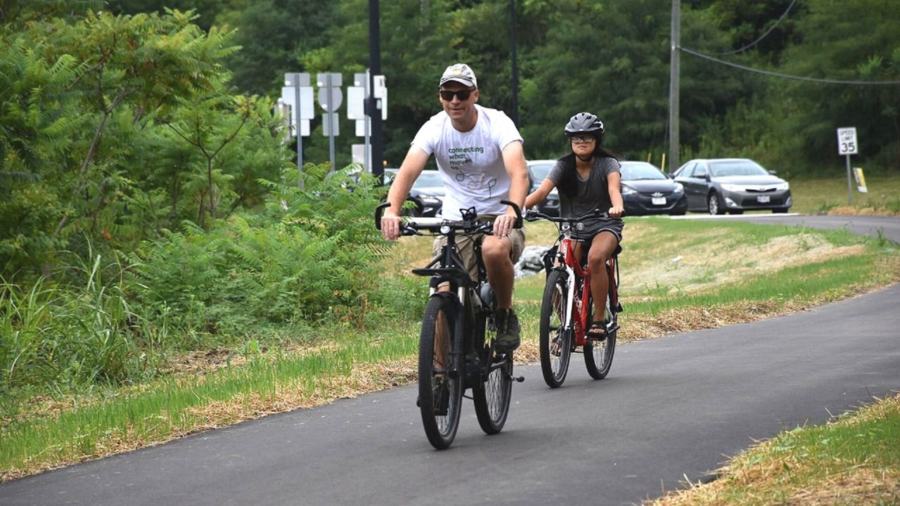
<path fill-rule="evenodd" d="M 4 32 L 0 274 L 259 204 L 285 160 L 271 103 L 227 93 L 233 32 L 193 19 L 88 11 Z"/>

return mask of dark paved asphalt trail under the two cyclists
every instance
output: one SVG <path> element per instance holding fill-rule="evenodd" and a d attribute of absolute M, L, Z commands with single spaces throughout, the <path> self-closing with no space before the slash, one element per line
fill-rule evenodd
<path fill-rule="evenodd" d="M 807 312 L 628 343 L 607 379 L 523 366 L 506 429 L 464 402 L 433 450 L 414 386 L 0 484 L 0 504 L 633 504 L 780 430 L 900 391 L 900 285 Z"/>

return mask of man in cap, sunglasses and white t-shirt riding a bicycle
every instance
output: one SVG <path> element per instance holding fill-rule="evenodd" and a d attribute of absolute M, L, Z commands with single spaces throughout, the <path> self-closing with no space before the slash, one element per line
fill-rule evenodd
<path fill-rule="evenodd" d="M 519 207 L 525 203 L 528 173 L 522 136 L 505 113 L 475 104 L 478 81 L 472 68 L 464 63 L 446 68 L 438 97 L 444 111 L 422 125 L 412 140 L 388 193 L 391 207 L 382 216 L 382 235 L 388 240 L 400 237 L 401 206 L 428 157 L 434 154 L 446 186 L 444 217 L 461 220 L 461 210 L 473 207 L 480 219 L 494 222 L 493 235 L 461 237 L 456 244 L 470 275 L 477 279 L 474 244 L 482 241 L 488 283 L 497 294 L 497 346 L 512 351 L 518 348 L 520 334 L 518 317 L 512 309 L 513 264 L 525 246 L 525 231 L 513 228 L 516 212 L 500 201 L 508 200 Z M 446 238 L 436 239 L 435 256 L 443 241 Z"/>

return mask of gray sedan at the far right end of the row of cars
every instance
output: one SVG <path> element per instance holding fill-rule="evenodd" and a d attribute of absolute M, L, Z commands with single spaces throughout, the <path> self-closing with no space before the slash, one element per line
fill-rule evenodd
<path fill-rule="evenodd" d="M 741 214 L 747 210 L 788 212 L 790 185 L 750 158 L 698 158 L 682 165 L 675 181 L 684 185 L 688 210 Z"/>

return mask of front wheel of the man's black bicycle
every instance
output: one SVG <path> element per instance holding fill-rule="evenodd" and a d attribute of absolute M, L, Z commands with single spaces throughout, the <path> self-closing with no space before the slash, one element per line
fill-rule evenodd
<path fill-rule="evenodd" d="M 459 428 L 463 402 L 463 373 L 454 371 L 453 301 L 431 297 L 419 334 L 419 411 L 428 442 L 449 447 Z"/>

